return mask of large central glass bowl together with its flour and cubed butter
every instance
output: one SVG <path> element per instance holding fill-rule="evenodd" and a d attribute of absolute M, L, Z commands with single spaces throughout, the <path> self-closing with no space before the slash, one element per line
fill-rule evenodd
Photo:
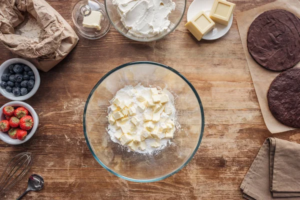
<path fill-rule="evenodd" d="M 200 97 L 173 68 L 130 62 L 105 74 L 85 103 L 83 130 L 94 158 L 130 181 L 151 182 L 184 167 L 204 129 Z"/>

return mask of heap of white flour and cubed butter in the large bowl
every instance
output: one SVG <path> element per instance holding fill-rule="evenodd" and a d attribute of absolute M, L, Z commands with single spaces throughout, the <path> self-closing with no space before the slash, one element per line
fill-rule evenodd
<path fill-rule="evenodd" d="M 126 85 L 110 103 L 107 132 L 113 142 L 148 154 L 171 143 L 178 123 L 174 96 L 167 89 Z"/>

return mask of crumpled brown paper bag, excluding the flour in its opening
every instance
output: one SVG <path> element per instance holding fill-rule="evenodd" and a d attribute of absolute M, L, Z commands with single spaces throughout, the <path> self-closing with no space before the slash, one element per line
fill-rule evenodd
<path fill-rule="evenodd" d="M 15 34 L 26 12 L 43 30 L 41 38 Z M 64 18 L 44 0 L 0 0 L 0 41 L 15 55 L 48 71 L 77 44 L 78 37 Z"/>

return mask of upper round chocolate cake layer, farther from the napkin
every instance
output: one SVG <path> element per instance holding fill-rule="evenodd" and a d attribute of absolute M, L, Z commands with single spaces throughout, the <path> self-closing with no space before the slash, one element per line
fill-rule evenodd
<path fill-rule="evenodd" d="M 272 9 L 251 23 L 247 46 L 263 67 L 285 70 L 300 61 L 300 19 L 283 9 Z"/>

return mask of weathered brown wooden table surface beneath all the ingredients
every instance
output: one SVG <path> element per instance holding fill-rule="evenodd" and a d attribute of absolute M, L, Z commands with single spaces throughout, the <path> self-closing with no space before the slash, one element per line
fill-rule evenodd
<path fill-rule="evenodd" d="M 76 0 L 47 1 L 73 26 Z M 242 199 L 239 185 L 263 141 L 276 136 L 300 142 L 300 130 L 267 130 L 236 25 L 236 13 L 272 0 L 231 1 L 236 3 L 233 24 L 218 40 L 196 41 L 184 28 L 185 13 L 176 30 L 158 41 L 132 41 L 113 27 L 98 40 L 80 37 L 62 62 L 40 72 L 39 90 L 26 100 L 39 115 L 38 132 L 17 146 L 0 141 L 0 167 L 13 155 L 30 151 L 30 173 L 44 177 L 44 189 L 24 199 Z M 1 45 L 0 63 L 9 58 L 10 51 Z M 182 170 L 158 182 L 130 182 L 106 171 L 83 136 L 83 107 L 92 87 L 112 68 L 137 60 L 160 62 L 181 72 L 204 106 L 205 129 L 198 151 Z M 8 101 L 0 97 L 0 104 Z M 15 199 L 26 188 L 26 179 L 1 199 Z"/>

